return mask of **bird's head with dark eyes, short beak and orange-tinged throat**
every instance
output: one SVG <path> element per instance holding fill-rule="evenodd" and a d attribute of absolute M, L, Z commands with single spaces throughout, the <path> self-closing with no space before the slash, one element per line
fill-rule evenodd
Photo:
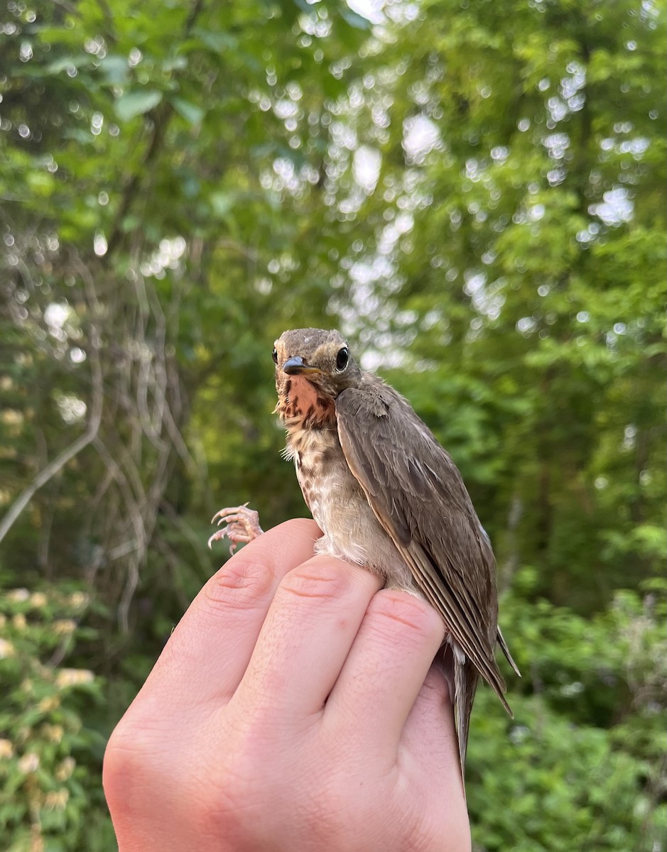
<path fill-rule="evenodd" d="M 338 394 L 357 384 L 361 370 L 339 331 L 283 331 L 273 350 L 277 411 L 283 419 L 305 416 L 310 406 L 331 408 Z"/>

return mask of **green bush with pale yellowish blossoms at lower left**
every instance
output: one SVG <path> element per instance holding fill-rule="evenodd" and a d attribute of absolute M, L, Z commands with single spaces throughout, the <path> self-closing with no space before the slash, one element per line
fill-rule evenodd
<path fill-rule="evenodd" d="M 72 584 L 0 596 L 0 843 L 30 849 L 109 849 L 99 784 L 104 738 L 90 727 L 99 676 L 62 661 L 95 632 L 88 596 Z"/>

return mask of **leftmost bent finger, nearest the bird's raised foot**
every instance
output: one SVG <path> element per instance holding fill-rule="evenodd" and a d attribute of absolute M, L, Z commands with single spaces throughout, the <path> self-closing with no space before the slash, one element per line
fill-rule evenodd
<path fill-rule="evenodd" d="M 313 555 L 320 530 L 297 519 L 247 544 L 206 583 L 142 688 L 173 717 L 229 700 L 241 682 L 281 579 Z"/>

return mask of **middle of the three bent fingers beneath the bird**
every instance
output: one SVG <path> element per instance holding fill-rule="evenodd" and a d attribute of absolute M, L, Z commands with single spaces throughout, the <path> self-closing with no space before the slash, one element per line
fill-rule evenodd
<path fill-rule="evenodd" d="M 331 556 L 315 556 L 288 573 L 235 704 L 297 724 L 322 711 L 381 584 L 376 574 Z"/>

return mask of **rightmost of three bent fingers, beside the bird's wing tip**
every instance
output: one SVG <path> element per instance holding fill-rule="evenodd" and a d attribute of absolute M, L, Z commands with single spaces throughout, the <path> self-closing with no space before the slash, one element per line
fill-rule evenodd
<path fill-rule="evenodd" d="M 444 638 L 438 613 L 407 591 L 378 592 L 329 696 L 325 718 L 394 761 L 403 726 Z"/>

